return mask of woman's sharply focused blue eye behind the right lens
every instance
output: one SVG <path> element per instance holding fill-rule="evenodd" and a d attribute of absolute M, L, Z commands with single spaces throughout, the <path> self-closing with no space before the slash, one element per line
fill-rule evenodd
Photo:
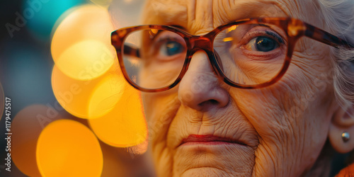
<path fill-rule="evenodd" d="M 258 52 L 269 52 L 279 47 L 279 44 L 273 38 L 258 36 L 252 38 L 245 46 L 247 50 Z"/>

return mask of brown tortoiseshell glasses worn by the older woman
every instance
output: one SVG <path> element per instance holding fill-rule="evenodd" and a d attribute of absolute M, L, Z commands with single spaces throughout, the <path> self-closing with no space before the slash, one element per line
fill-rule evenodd
<path fill-rule="evenodd" d="M 206 52 L 215 74 L 230 86 L 269 86 L 285 74 L 302 36 L 333 47 L 353 47 L 295 18 L 249 18 L 205 35 L 168 25 L 140 25 L 115 30 L 111 38 L 125 79 L 140 91 L 157 92 L 181 81 L 198 50 Z"/>

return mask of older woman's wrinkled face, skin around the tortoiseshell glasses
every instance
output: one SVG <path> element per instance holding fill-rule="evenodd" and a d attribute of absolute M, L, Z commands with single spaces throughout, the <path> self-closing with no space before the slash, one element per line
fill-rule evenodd
<path fill-rule="evenodd" d="M 321 27 L 314 9 L 313 2 L 293 0 L 151 0 L 144 23 L 178 25 L 193 35 L 265 16 L 292 16 Z M 328 51 L 302 38 L 285 76 L 263 89 L 224 84 L 206 53 L 195 52 L 180 84 L 144 93 L 158 175 L 300 176 L 309 171 L 336 108 Z"/>

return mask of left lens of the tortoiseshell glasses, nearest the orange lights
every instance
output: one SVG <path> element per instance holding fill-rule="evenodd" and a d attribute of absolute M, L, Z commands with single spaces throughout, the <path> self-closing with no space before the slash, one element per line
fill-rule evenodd
<path fill-rule="evenodd" d="M 130 80 L 144 89 L 173 84 L 181 73 L 187 45 L 169 30 L 137 30 L 127 36 L 122 57 Z"/>

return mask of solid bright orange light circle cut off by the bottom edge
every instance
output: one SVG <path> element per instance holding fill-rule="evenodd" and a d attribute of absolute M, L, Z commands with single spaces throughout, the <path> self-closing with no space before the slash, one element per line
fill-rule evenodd
<path fill-rule="evenodd" d="M 47 125 L 38 139 L 36 156 L 42 176 L 101 176 L 103 169 L 98 139 L 73 120 Z"/>

